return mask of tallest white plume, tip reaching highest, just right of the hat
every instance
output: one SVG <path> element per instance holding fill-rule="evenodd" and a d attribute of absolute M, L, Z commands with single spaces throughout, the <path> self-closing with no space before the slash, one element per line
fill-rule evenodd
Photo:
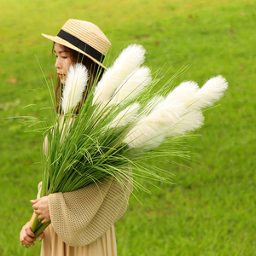
<path fill-rule="evenodd" d="M 96 85 L 93 104 L 106 102 L 114 91 L 127 77 L 144 62 L 146 50 L 138 44 L 131 44 L 124 49 L 113 62 L 113 66 L 103 74 L 101 81 Z"/>

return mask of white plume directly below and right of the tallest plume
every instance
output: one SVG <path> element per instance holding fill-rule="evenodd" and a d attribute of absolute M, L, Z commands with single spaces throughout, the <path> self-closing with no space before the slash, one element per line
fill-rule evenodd
<path fill-rule="evenodd" d="M 151 83 L 150 69 L 148 67 L 139 67 L 125 80 L 123 84 L 115 91 L 110 105 L 125 103 L 137 96 L 145 86 Z"/>

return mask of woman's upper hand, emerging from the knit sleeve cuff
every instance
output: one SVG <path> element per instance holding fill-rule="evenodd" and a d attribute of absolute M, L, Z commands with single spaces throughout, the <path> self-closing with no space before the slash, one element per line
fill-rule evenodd
<path fill-rule="evenodd" d="M 31 201 L 34 212 L 38 214 L 38 219 L 42 219 L 42 223 L 47 223 L 50 220 L 49 217 L 49 206 L 48 206 L 48 196 L 43 196 L 36 200 Z"/>

